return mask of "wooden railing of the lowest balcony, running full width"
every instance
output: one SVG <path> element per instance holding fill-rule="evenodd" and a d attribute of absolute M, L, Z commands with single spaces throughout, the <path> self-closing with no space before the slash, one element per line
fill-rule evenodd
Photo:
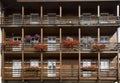
<path fill-rule="evenodd" d="M 80 76 L 81 75 L 81 76 Z M 97 79 L 97 70 L 82 70 L 78 69 L 4 69 L 4 78 L 22 78 L 23 79 L 79 79 L 79 78 L 93 78 Z M 100 78 L 117 78 L 117 69 L 101 69 Z"/>

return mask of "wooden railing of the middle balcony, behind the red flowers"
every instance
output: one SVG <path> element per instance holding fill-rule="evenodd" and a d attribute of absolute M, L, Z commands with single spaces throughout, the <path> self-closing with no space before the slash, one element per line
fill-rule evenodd
<path fill-rule="evenodd" d="M 63 44 L 46 44 L 47 47 L 44 52 L 78 52 L 81 51 L 117 51 L 119 49 L 118 43 L 99 43 L 99 44 L 79 44 L 73 47 L 65 47 Z M 99 47 L 101 45 L 101 47 Z M 2 49 L 5 52 L 40 52 L 42 50 L 36 50 L 35 44 L 20 44 L 17 46 L 4 45 L 2 44 Z M 104 47 L 102 47 L 104 46 Z"/>

